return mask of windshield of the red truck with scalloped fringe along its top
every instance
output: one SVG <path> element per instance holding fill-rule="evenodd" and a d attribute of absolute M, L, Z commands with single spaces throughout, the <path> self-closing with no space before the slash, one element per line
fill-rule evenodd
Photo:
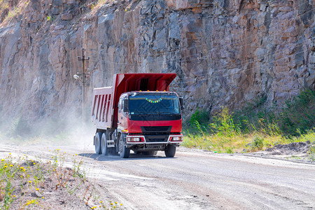
<path fill-rule="evenodd" d="M 179 97 L 167 94 L 135 94 L 129 97 L 130 115 L 180 115 Z"/>

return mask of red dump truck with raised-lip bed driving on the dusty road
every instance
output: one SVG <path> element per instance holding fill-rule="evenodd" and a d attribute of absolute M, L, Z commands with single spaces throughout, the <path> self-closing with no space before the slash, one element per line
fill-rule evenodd
<path fill-rule="evenodd" d="M 176 73 L 119 73 L 111 87 L 94 88 L 95 153 L 129 158 L 165 151 L 174 157 L 183 141 L 183 98 L 169 91 Z"/>

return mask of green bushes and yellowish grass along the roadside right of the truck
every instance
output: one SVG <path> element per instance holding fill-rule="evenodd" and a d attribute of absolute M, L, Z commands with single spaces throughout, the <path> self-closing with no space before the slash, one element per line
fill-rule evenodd
<path fill-rule="evenodd" d="M 266 108 L 266 99 L 256 99 L 234 112 L 225 107 L 214 116 L 197 109 L 183 124 L 182 145 L 235 153 L 261 151 L 276 144 L 315 141 L 314 90 L 303 90 L 281 109 Z"/>

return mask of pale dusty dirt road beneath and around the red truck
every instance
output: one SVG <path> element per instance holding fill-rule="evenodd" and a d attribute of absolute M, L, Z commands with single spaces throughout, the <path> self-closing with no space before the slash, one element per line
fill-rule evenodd
<path fill-rule="evenodd" d="M 49 154 L 57 147 L 1 146 L 7 152 Z M 315 165 L 179 148 L 175 158 L 95 155 L 92 145 L 59 146 L 78 153 L 106 198 L 125 209 L 314 209 Z M 41 151 L 41 152 L 38 152 Z"/>

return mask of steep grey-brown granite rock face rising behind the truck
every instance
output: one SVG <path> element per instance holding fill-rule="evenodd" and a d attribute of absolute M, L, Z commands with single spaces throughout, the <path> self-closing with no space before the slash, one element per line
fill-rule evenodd
<path fill-rule="evenodd" d="M 17 5 L 18 2 L 12 4 Z M 41 120 L 80 117 L 93 87 L 114 73 L 177 73 L 172 90 L 186 114 L 237 109 L 257 97 L 283 104 L 315 88 L 315 3 L 311 0 L 34 0 L 0 27 L 0 113 Z M 13 5 L 14 6 L 14 5 Z M 87 113 L 87 116 L 89 113 Z"/>

